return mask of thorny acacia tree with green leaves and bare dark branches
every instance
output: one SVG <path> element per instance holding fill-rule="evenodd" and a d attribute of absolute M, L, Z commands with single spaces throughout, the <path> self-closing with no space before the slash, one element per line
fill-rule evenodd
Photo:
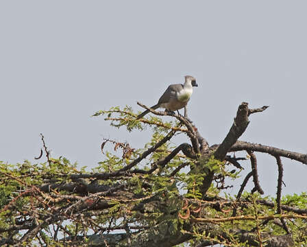
<path fill-rule="evenodd" d="M 45 163 L 1 163 L 1 246 L 307 246 L 306 193 L 281 196 L 281 157 L 307 164 L 307 155 L 238 141 L 249 116 L 267 106 L 243 102 L 223 142 L 211 146 L 185 117 L 143 107 L 154 116 L 136 120 L 129 107 L 95 113 L 116 128 L 153 134 L 141 149 L 103 140 L 106 158 L 91 172 L 51 157 L 43 136 Z M 162 121 L 165 115 L 173 121 Z M 188 142 L 171 143 L 180 133 Z M 107 151 L 110 144 L 116 152 Z M 238 151 L 247 156 L 229 155 Z M 258 152 L 275 158 L 275 198 L 262 196 Z M 236 196 L 221 196 L 242 162 L 251 172 Z M 245 191 L 250 178 L 254 189 Z"/>

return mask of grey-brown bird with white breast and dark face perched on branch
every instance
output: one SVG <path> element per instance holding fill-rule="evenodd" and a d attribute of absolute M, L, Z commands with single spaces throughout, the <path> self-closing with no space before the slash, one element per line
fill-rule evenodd
<path fill-rule="evenodd" d="M 193 86 L 198 86 L 196 79 L 191 75 L 184 76 L 184 84 L 171 84 L 160 97 L 158 104 L 151 106 L 151 109 L 165 108 L 167 111 L 175 111 L 184 108 L 184 117 L 187 115 L 186 104 L 193 93 Z M 136 119 L 144 117 L 149 110 L 140 113 Z"/>

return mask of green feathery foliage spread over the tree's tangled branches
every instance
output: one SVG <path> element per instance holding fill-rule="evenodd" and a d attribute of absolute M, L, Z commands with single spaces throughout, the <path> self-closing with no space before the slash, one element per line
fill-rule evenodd
<path fill-rule="evenodd" d="M 0 162 L 0 231 L 27 220 L 31 224 L 42 224 L 39 233 L 25 242 L 25 246 L 34 246 L 38 241 L 44 242 L 46 246 L 64 246 L 54 237 L 57 226 L 60 225 L 62 228 L 58 228 L 58 231 L 61 232 L 61 237 L 112 233 L 118 229 L 123 231 L 129 225 L 136 228 L 135 235 L 151 238 L 153 241 L 181 231 L 195 237 L 190 244 L 209 240 L 223 246 L 248 246 L 234 234 L 234 229 L 252 231 L 255 234 L 256 231 L 274 235 L 285 234 L 284 229 L 274 224 L 273 220 L 267 224 L 258 220 L 260 215 L 276 216 L 276 207 L 258 203 L 259 200 L 275 201 L 274 198 L 245 191 L 241 200 L 237 200 L 229 193 L 223 194 L 223 190 L 214 183 L 211 183 L 206 198 L 204 197 L 201 186 L 206 182 L 204 178 L 209 172 L 213 172 L 218 178 L 227 177 L 232 180 L 236 180 L 241 172 L 230 172 L 227 163 L 215 159 L 213 154 L 193 160 L 180 153 L 168 163 L 159 165 L 177 146 L 169 141 L 120 176 L 106 176 L 103 179 L 91 177 L 93 174 L 116 174 L 156 145 L 169 130 L 180 133 L 183 128 L 177 121 L 165 122 L 158 117 L 149 116 L 147 119 L 136 120 L 136 114 L 128 106 L 123 110 L 119 107 L 100 110 L 93 116 L 99 115 L 104 115 L 106 120 L 111 121 L 111 126 L 125 127 L 128 131 L 145 130 L 149 126 L 152 130 L 151 139 L 143 148 L 132 149 L 131 155 L 124 158 L 119 154 L 119 150 L 110 149 L 108 145 L 103 151 L 103 161 L 91 170 L 86 167 L 80 169 L 77 163 L 71 163 L 64 157 L 50 158 L 49 161 L 39 164 L 31 164 L 29 161 L 16 165 Z M 116 143 L 114 145 L 116 146 Z M 173 174 L 182 164 L 186 167 Z M 149 173 L 151 169 L 153 172 Z M 142 172 L 136 172 L 138 170 Z M 78 174 L 84 177 L 73 179 L 73 176 L 77 177 Z M 46 184 L 54 185 L 56 189 L 42 192 L 39 188 Z M 73 185 L 73 189 L 65 189 L 69 185 Z M 106 190 L 97 193 L 84 192 L 82 186 L 86 185 L 103 185 Z M 59 189 L 61 186 L 62 189 Z M 123 186 L 122 189 L 116 190 L 120 186 Z M 79 190 L 75 189 L 77 187 Z M 100 202 L 102 206 L 96 210 L 94 206 Z M 282 204 L 306 209 L 307 194 L 294 193 L 284 196 Z M 201 210 L 196 210 L 198 207 Z M 256 220 L 227 220 L 232 217 L 234 209 L 238 216 L 249 215 L 256 217 Z M 60 216 L 53 224 L 45 224 L 43 219 L 56 214 Z M 195 219 L 225 220 L 203 223 Z M 187 229 L 188 224 L 191 228 Z M 296 246 L 307 246 L 306 220 L 288 220 L 287 226 L 293 234 Z M 206 231 L 208 229 L 210 231 Z M 11 232 L 3 231 L 1 237 L 9 237 Z M 84 237 L 78 241 L 87 245 L 89 240 Z M 122 244 L 125 244 L 125 241 Z"/>

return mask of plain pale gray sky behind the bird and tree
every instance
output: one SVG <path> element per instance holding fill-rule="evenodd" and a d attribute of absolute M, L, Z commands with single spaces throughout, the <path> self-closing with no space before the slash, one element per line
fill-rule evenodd
<path fill-rule="evenodd" d="M 0 1 L 0 160 L 36 162 L 40 132 L 54 156 L 88 167 L 103 159 L 103 137 L 140 148 L 148 134 L 90 115 L 156 104 L 186 74 L 199 84 L 189 116 L 210 145 L 246 101 L 270 108 L 251 116 L 242 140 L 306 153 L 306 8 L 281 0 Z M 306 165 L 282 161 L 283 194 L 307 191 Z M 274 159 L 258 155 L 258 166 L 274 194 Z"/>

